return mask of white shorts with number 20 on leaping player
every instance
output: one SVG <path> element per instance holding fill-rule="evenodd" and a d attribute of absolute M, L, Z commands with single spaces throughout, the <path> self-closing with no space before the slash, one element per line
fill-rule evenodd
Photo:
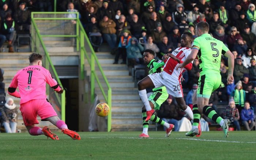
<path fill-rule="evenodd" d="M 165 71 L 162 71 L 160 73 L 153 73 L 151 75 L 148 75 L 148 77 L 150 77 L 150 79 L 153 81 L 155 88 L 165 86 L 169 95 L 172 95 L 176 98 L 183 97 L 182 85 L 180 80 L 174 78 Z"/>

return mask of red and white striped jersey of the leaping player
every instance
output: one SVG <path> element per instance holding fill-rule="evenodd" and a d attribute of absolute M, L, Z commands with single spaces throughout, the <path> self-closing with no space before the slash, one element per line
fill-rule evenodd
<path fill-rule="evenodd" d="M 185 61 L 188 55 L 191 53 L 191 48 L 189 47 L 178 47 L 176 48 L 172 54 L 177 57 L 181 61 Z M 165 65 L 163 66 L 163 71 L 167 72 L 168 74 L 172 75 L 174 78 L 180 80 L 181 74 L 186 71 L 185 68 L 179 68 L 176 70 L 176 65 L 178 64 L 177 61 L 173 60 L 169 57 L 167 60 L 164 61 Z M 191 62 L 193 64 L 193 61 Z"/>

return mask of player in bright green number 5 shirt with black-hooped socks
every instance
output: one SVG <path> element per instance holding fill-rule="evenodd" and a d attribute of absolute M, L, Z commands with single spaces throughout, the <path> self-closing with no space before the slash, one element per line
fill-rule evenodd
<path fill-rule="evenodd" d="M 193 125 L 191 131 L 186 136 L 195 136 L 200 132 L 198 129 L 200 113 L 217 122 L 224 132 L 224 137 L 229 134 L 229 119 L 222 119 L 212 107 L 208 106 L 211 93 L 219 88 L 221 84 L 220 65 L 221 54 L 228 58 L 229 72 L 227 82 L 234 81 L 234 56 L 222 41 L 211 37 L 208 34 L 209 24 L 199 22 L 196 25 L 197 38 L 193 42 L 193 49 L 187 59 L 176 66 L 176 69 L 184 67 L 193 61 L 197 54 L 199 58 L 200 77 L 198 80 L 197 93 L 193 96 Z"/>

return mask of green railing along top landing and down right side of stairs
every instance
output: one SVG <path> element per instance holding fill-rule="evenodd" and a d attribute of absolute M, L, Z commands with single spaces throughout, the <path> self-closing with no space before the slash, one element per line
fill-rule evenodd
<path fill-rule="evenodd" d="M 67 18 L 67 15 L 69 14 L 76 14 L 76 18 Z M 105 102 L 108 103 L 110 107 L 110 113 L 108 115 L 108 132 L 110 132 L 112 90 L 108 83 L 108 79 L 106 78 L 103 69 L 99 63 L 99 60 L 93 50 L 93 47 L 89 41 L 89 38 L 87 37 L 87 34 L 84 31 L 82 23 L 79 20 L 79 13 L 32 12 L 31 19 L 33 19 L 33 26 L 35 26 L 35 29 L 38 31 L 38 34 L 40 35 L 38 36 L 39 39 L 42 40 L 42 38 L 53 38 L 54 40 L 57 39 L 57 41 L 68 42 L 66 46 L 76 46 L 76 51 L 80 52 L 79 79 L 83 80 L 86 75 L 90 76 L 91 103 L 94 100 L 95 89 L 97 88 L 99 88 L 98 93 L 101 92 L 103 98 L 105 99 Z M 74 23 L 74 20 L 76 23 Z M 37 43 L 35 43 L 35 45 L 37 45 Z M 49 56 L 48 53 L 47 55 Z M 85 66 L 86 68 L 84 68 Z M 87 72 L 87 74 L 85 72 Z M 95 83 L 95 80 L 97 83 Z"/>

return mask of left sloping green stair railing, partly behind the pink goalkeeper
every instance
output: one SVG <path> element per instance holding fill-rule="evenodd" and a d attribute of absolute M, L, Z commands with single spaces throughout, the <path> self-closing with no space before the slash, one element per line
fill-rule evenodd
<path fill-rule="evenodd" d="M 55 79 L 63 88 L 63 85 L 61 84 L 61 81 L 57 75 L 57 72 L 52 64 L 49 53 L 45 47 L 44 41 L 42 40 L 42 37 L 39 33 L 37 25 L 34 22 L 34 19 L 31 19 L 31 37 L 32 37 L 32 42 L 31 42 L 32 52 L 37 52 L 44 55 L 43 66 L 46 69 L 48 69 L 51 73 L 54 74 Z M 49 88 L 49 85 L 47 85 L 46 92 L 47 92 L 47 95 L 49 96 L 48 99 L 53 104 L 53 107 L 56 109 L 58 115 L 60 114 L 61 119 L 65 121 L 65 90 L 63 91 L 63 94 L 57 94 L 56 92 L 53 91 L 52 88 Z"/>

